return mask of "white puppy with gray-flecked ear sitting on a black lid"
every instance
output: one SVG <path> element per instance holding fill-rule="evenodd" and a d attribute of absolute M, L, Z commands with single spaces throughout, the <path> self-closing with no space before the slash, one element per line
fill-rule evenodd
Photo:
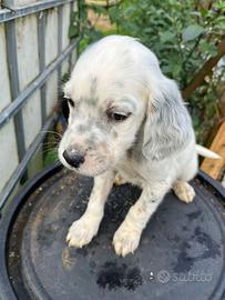
<path fill-rule="evenodd" d="M 111 36 L 89 47 L 64 96 L 70 116 L 59 158 L 69 169 L 94 177 L 88 208 L 69 230 L 69 246 L 82 248 L 98 233 L 116 176 L 142 188 L 113 238 L 119 256 L 133 253 L 171 188 L 183 202 L 192 202 L 195 192 L 187 181 L 196 174 L 197 152 L 216 156 L 195 146 L 176 83 L 133 38 Z"/>

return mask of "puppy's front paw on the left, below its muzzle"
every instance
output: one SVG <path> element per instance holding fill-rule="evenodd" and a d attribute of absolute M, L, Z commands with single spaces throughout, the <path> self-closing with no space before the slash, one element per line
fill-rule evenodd
<path fill-rule="evenodd" d="M 99 222 L 91 220 L 91 218 L 82 217 L 73 222 L 67 236 L 69 247 L 82 248 L 90 243 L 99 230 Z"/>

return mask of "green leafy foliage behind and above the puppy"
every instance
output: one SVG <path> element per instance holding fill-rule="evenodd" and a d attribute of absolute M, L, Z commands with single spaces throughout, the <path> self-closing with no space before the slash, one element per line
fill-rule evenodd
<path fill-rule="evenodd" d="M 83 50 L 89 43 L 109 32 L 100 32 L 90 23 L 90 7 L 83 0 L 80 2 L 80 19 L 74 19 L 74 23 L 79 23 L 80 49 Z M 207 9 L 201 6 L 201 1 L 194 0 L 124 0 L 104 8 L 91 8 L 95 13 L 109 16 L 114 24 L 110 33 L 139 38 L 153 50 L 163 72 L 175 79 L 180 88 L 184 89 L 205 61 L 216 56 L 217 44 L 225 33 L 225 2 L 208 2 L 211 4 Z M 70 31 L 76 33 L 74 29 Z M 188 99 L 193 123 L 201 142 L 212 126 L 215 112 L 218 111 L 216 87 L 222 79 L 223 76 L 215 78 L 212 72 Z"/>

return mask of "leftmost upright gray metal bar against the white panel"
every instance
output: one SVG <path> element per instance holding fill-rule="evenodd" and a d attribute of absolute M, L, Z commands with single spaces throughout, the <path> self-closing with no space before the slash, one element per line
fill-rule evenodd
<path fill-rule="evenodd" d="M 9 76 L 10 76 L 10 89 L 11 97 L 16 99 L 19 97 L 19 72 L 18 72 L 18 59 L 17 59 L 17 41 L 16 41 L 16 27 L 14 21 L 10 21 L 6 24 L 7 34 L 7 56 L 9 64 Z M 24 130 L 22 112 L 19 111 L 14 117 L 14 130 L 17 138 L 17 148 L 19 161 L 23 158 L 25 153 L 25 141 L 24 141 Z"/>

